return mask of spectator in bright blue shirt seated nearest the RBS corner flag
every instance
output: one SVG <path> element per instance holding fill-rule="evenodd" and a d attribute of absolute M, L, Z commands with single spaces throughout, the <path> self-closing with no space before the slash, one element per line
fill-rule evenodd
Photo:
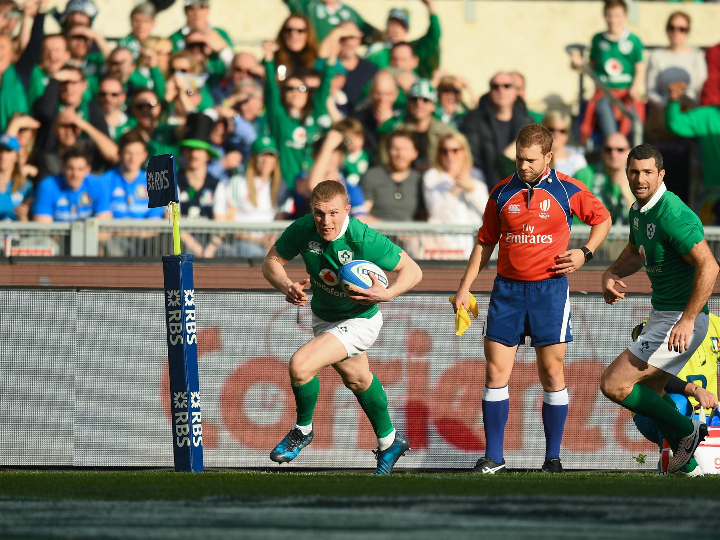
<path fill-rule="evenodd" d="M 143 163 L 148 160 L 148 147 L 140 133 L 130 131 L 120 141 L 120 166 L 100 177 L 103 189 L 110 193 L 112 217 L 143 219 L 163 217 L 165 209 L 148 208 L 148 183 Z"/>

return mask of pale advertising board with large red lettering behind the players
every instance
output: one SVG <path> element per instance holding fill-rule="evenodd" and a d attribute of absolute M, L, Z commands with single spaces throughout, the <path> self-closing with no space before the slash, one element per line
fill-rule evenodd
<path fill-rule="evenodd" d="M 195 297 L 205 466 L 278 467 L 268 454 L 294 420 L 287 361 L 312 337 L 310 309 L 268 292 Z M 483 313 L 487 294 L 477 299 Z M 4 289 L 0 302 L 0 465 L 171 467 L 162 292 Z M 571 302 L 563 464 L 653 469 L 657 447 L 598 390 L 603 369 L 647 316 L 649 297 L 608 306 L 598 294 L 572 294 Z M 719 297 L 711 309 L 720 310 Z M 457 338 L 446 294 L 408 294 L 382 312 L 369 356 L 391 417 L 412 444 L 400 467 L 471 467 L 485 446 L 482 315 Z M 291 467 L 374 467 L 375 438 L 357 400 L 332 369 L 319 377 L 315 439 Z M 510 380 L 509 467 L 541 465 L 540 410 L 534 351 L 521 346 Z"/>

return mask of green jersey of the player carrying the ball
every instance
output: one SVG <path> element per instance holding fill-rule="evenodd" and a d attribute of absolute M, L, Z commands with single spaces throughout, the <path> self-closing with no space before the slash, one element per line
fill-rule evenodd
<path fill-rule="evenodd" d="M 310 274 L 310 307 L 319 318 L 335 320 L 366 318 L 377 313 L 377 305 L 361 305 L 348 299 L 338 279 L 338 269 L 350 261 L 365 260 L 384 271 L 400 262 L 398 246 L 360 220 L 345 218 L 340 235 L 326 242 L 315 228 L 312 214 L 300 217 L 275 243 L 279 256 L 288 261 L 300 254 Z"/>

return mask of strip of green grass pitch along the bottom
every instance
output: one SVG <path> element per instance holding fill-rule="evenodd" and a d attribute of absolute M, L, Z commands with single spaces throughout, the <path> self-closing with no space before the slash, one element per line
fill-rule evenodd
<path fill-rule="evenodd" d="M 1 539 L 718 538 L 720 475 L 1 472 Z"/>

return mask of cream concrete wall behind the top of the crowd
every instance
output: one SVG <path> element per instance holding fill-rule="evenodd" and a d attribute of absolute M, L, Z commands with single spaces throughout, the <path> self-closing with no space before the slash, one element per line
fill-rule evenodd
<path fill-rule="evenodd" d="M 133 0 L 95 0 L 100 9 L 95 27 L 104 35 L 130 32 Z M 64 6 L 65 0 L 57 2 Z M 383 27 L 391 7 L 410 10 L 411 37 L 427 27 L 427 10 L 419 0 L 347 0 L 367 20 Z M 482 1 L 436 0 L 443 27 L 442 65 L 463 73 L 474 90 L 483 93 L 500 70 L 521 71 L 527 78 L 528 103 L 544 110 L 548 103 L 577 101 L 577 73 L 570 70 L 564 48 L 589 43 L 604 30 L 601 1 Z M 676 9 L 693 18 L 690 45 L 720 41 L 720 4 L 638 1 L 630 29 L 647 45 L 664 45 L 665 21 Z M 274 37 L 288 10 L 282 0 L 213 0 L 211 19 L 230 32 L 238 49 L 259 55 L 261 42 Z M 182 2 L 162 12 L 156 34 L 170 35 L 184 24 Z M 54 22 L 48 22 L 48 30 Z M 592 84 L 588 86 L 592 87 Z"/>

